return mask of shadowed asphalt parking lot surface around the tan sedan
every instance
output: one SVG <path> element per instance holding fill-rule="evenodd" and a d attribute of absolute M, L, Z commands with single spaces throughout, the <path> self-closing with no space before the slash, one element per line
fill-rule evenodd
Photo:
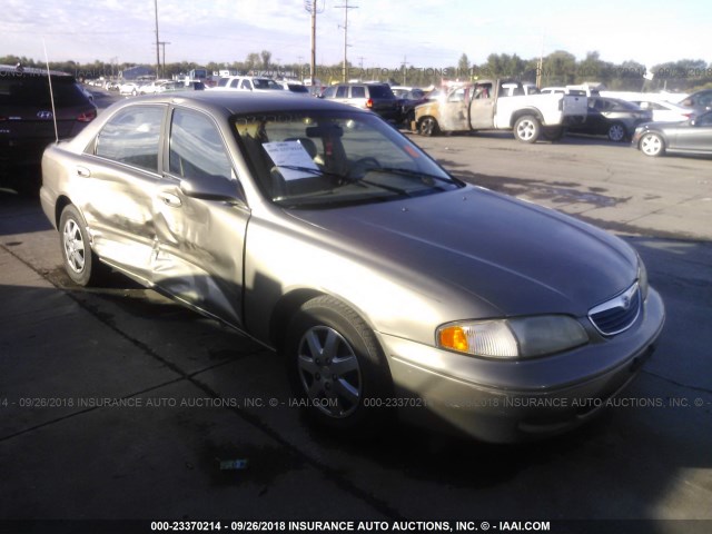
<path fill-rule="evenodd" d="M 0 191 L 0 532 L 30 532 L 8 520 L 80 522 L 31 532 L 149 532 L 174 520 L 712 531 L 712 161 L 583 137 L 413 139 L 463 179 L 639 250 L 668 323 L 617 405 L 526 445 L 405 427 L 345 442 L 304 424 L 270 352 L 118 275 L 72 286 L 38 202 Z"/>

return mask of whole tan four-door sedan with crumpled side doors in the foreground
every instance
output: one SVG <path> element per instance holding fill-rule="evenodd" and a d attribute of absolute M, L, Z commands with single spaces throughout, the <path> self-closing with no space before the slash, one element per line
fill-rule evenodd
<path fill-rule="evenodd" d="M 336 102 L 140 97 L 42 171 L 75 283 L 111 267 L 281 353 L 339 432 L 397 414 L 490 442 L 562 433 L 635 376 L 664 322 L 625 243 L 466 185 Z"/>

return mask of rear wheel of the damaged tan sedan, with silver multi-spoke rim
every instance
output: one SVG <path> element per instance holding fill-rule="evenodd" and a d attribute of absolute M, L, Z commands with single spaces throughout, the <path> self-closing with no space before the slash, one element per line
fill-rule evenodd
<path fill-rule="evenodd" d="M 59 218 L 59 246 L 65 270 L 75 284 L 93 286 L 106 274 L 107 268 L 91 250 L 85 219 L 72 205 Z"/>

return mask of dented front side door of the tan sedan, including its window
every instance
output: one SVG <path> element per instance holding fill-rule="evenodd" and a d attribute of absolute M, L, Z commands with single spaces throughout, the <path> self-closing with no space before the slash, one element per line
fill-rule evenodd
<path fill-rule="evenodd" d="M 238 328 L 249 209 L 217 123 L 172 111 L 168 161 L 155 199 L 157 286 Z"/>

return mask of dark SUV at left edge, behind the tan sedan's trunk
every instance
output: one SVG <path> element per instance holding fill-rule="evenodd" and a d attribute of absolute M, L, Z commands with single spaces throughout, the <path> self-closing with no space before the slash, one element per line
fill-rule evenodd
<path fill-rule="evenodd" d="M 97 117 L 97 107 L 72 76 L 0 65 L 0 186 L 34 194 L 44 147 L 75 137 Z M 57 134 L 55 120 L 57 118 Z"/>

